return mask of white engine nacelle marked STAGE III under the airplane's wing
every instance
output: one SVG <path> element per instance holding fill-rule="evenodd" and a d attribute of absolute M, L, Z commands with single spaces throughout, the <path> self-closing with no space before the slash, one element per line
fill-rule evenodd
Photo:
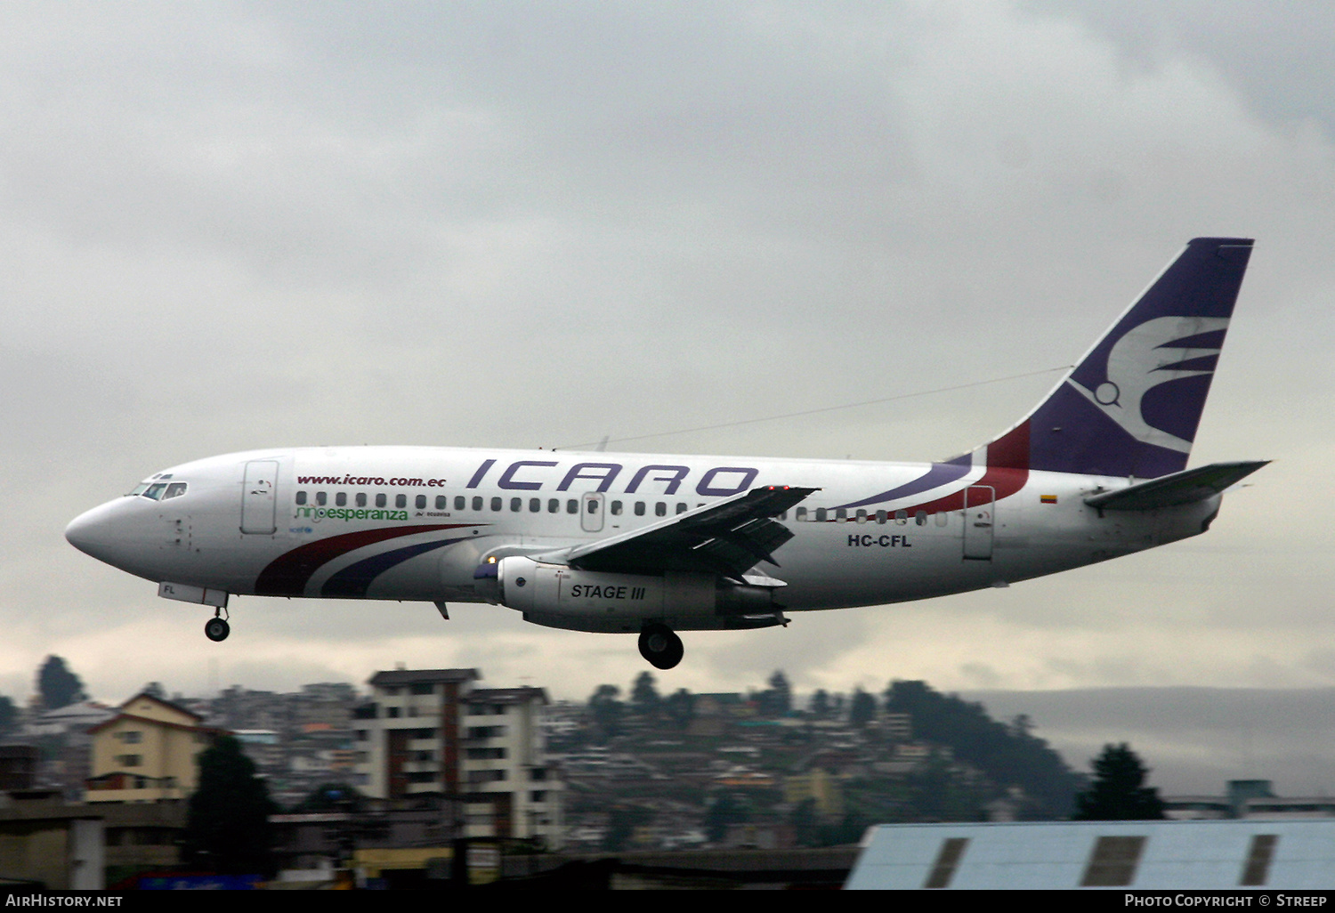
<path fill-rule="evenodd" d="M 581 622 L 602 627 L 630 619 L 676 619 L 681 625 L 780 609 L 773 587 L 720 583 L 713 574 L 610 574 L 543 565 L 522 555 L 497 562 L 497 585 L 501 605 L 525 614 L 561 615 L 579 627 L 585 626 Z"/>

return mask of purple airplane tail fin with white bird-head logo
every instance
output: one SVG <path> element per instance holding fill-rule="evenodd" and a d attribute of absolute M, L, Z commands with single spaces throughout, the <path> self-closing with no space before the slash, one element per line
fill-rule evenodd
<path fill-rule="evenodd" d="M 1247 238 L 1188 242 L 1048 398 L 975 462 L 1143 479 L 1185 469 L 1251 248 Z"/>

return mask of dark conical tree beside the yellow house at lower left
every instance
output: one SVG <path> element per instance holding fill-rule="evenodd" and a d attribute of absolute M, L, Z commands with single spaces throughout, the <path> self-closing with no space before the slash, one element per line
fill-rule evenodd
<path fill-rule="evenodd" d="M 275 810 L 242 743 L 223 735 L 199 754 L 199 786 L 186 814 L 186 858 L 215 872 L 267 874 L 268 816 Z"/>

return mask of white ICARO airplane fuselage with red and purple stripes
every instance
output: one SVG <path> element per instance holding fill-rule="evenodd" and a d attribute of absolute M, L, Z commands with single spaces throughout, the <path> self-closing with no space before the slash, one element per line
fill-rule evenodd
<path fill-rule="evenodd" d="M 1196 535 L 1219 497 L 1105 511 L 1127 479 L 960 463 L 669 456 L 449 447 L 307 447 L 164 470 L 163 498 L 117 498 L 69 527 L 89 554 L 155 582 L 228 594 L 478 602 L 489 559 L 539 555 L 761 486 L 818 489 L 777 519 L 758 565 L 789 611 L 881 605 L 1052 574 Z M 924 487 L 928 486 L 928 487 Z M 140 486 L 143 489 L 143 486 Z M 889 497 L 886 497 L 889 495 Z M 861 505 L 861 506 L 858 506 Z M 597 618 L 531 618 L 630 630 Z M 676 627 L 716 627 L 677 618 Z"/>

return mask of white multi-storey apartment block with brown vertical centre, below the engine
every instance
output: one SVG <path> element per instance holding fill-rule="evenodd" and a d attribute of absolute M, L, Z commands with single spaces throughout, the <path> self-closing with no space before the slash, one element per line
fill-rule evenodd
<path fill-rule="evenodd" d="M 565 784 L 546 755 L 541 687 L 477 687 L 475 669 L 376 673 L 354 719 L 368 797 L 455 802 L 466 837 L 561 845 Z"/>

